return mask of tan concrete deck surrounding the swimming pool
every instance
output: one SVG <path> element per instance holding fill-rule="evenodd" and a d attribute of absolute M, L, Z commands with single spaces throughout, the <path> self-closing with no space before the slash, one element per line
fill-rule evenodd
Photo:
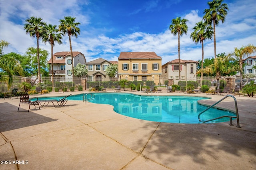
<path fill-rule="evenodd" d="M 224 97 L 164 91 L 153 95 L 212 98 L 200 101 L 206 105 Z M 241 128 L 236 120 L 234 126 L 144 121 L 115 113 L 109 105 L 71 100 L 63 107 L 31 106 L 29 112 L 17 112 L 20 99 L 0 99 L 0 169 L 254 170 L 256 98 L 235 97 Z M 216 106 L 235 108 L 232 98 Z"/>

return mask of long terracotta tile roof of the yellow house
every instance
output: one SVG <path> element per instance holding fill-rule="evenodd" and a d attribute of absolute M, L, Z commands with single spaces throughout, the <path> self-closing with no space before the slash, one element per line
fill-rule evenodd
<path fill-rule="evenodd" d="M 155 52 L 121 52 L 118 59 L 162 59 Z"/>

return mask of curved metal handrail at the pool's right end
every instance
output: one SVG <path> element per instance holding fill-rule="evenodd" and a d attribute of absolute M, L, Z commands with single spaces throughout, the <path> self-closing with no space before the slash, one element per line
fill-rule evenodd
<path fill-rule="evenodd" d="M 224 99 L 226 99 L 226 98 L 228 98 L 228 97 L 232 97 L 232 98 L 234 99 L 235 107 L 236 107 L 236 116 L 224 115 L 224 116 L 216 117 L 216 118 L 214 118 L 214 119 L 209 119 L 209 120 L 206 120 L 206 121 L 202 121 L 202 120 L 200 119 L 200 115 L 201 115 L 202 113 L 204 113 L 205 111 L 207 111 L 208 109 L 212 108 L 213 106 L 215 106 L 216 104 L 220 103 L 222 100 L 224 100 Z M 200 121 L 200 122 L 203 122 L 203 123 L 208 122 L 208 121 L 212 121 L 212 120 L 216 120 L 216 119 L 220 119 L 220 118 L 222 118 L 222 117 L 229 117 L 229 118 L 230 118 L 230 124 L 229 124 L 230 126 L 233 126 L 233 124 L 232 124 L 232 118 L 236 118 L 236 120 L 237 120 L 237 126 L 236 126 L 236 127 L 240 127 L 240 124 L 239 124 L 239 114 L 238 114 L 238 108 L 237 108 L 237 102 L 236 102 L 236 98 L 235 98 L 234 96 L 232 96 L 232 95 L 227 95 L 227 96 L 225 96 L 224 98 L 222 98 L 221 100 L 219 100 L 218 102 L 216 102 L 215 104 L 213 104 L 212 106 L 208 107 L 207 109 L 205 109 L 204 111 L 202 111 L 201 113 L 198 114 L 198 119 L 199 119 L 199 121 Z"/>

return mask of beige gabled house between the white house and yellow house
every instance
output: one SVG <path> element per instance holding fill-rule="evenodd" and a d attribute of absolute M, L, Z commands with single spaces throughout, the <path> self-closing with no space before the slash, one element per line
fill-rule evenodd
<path fill-rule="evenodd" d="M 93 61 L 90 61 L 86 64 L 86 68 L 88 70 L 87 74 L 87 81 L 111 81 L 112 78 L 108 77 L 106 75 L 106 68 L 110 64 L 117 64 L 117 61 L 107 61 L 105 59 L 96 59 Z M 113 80 L 117 80 L 117 77 L 113 78 Z"/>

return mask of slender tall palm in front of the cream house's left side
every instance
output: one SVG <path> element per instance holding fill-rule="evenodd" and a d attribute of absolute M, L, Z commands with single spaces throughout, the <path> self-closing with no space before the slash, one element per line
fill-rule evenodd
<path fill-rule="evenodd" d="M 187 35 L 187 31 L 188 31 L 188 26 L 186 25 L 187 21 L 188 20 L 184 18 L 181 19 L 180 17 L 177 17 L 176 19 L 175 18 L 172 19 L 172 24 L 169 27 L 173 35 L 178 34 L 179 78 L 180 78 L 180 36 L 182 36 L 182 34 L 184 33 Z"/>

